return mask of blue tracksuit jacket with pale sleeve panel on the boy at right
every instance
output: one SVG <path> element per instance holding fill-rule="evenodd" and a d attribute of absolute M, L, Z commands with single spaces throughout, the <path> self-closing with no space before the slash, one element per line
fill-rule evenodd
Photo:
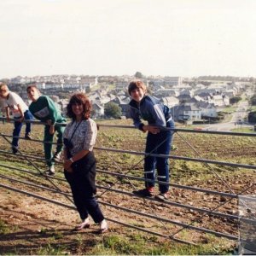
<path fill-rule="evenodd" d="M 129 106 L 133 124 L 142 131 L 144 124 L 141 119 L 148 121 L 148 125 L 163 127 L 172 119 L 170 109 L 154 96 L 144 96 L 141 102 L 131 100 Z"/>

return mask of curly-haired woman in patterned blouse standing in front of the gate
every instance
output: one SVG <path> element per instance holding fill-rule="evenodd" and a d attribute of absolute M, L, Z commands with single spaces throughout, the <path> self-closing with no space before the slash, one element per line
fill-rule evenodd
<path fill-rule="evenodd" d="M 64 131 L 64 174 L 82 219 L 76 230 L 90 227 L 90 214 L 94 222 L 100 224 L 100 232 L 105 232 L 108 224 L 95 199 L 96 159 L 93 147 L 97 126 L 90 119 L 91 110 L 90 100 L 84 93 L 74 94 L 67 105 L 67 116 L 72 122 Z"/>

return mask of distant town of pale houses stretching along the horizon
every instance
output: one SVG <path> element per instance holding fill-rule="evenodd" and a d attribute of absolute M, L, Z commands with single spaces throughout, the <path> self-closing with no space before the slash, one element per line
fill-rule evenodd
<path fill-rule="evenodd" d="M 37 77 L 15 77 L 0 79 L 9 89 L 18 93 L 27 104 L 26 86 L 37 84 L 44 95 L 50 96 L 65 113 L 69 96 L 74 92 L 85 92 L 93 103 L 94 119 L 111 117 L 107 108 L 118 107 L 115 118 L 129 118 L 130 96 L 127 86 L 131 80 L 141 79 L 148 86 L 148 93 L 158 97 L 172 111 L 176 121 L 201 122 L 217 120 L 222 109 L 236 103 L 241 95 L 250 98 L 255 93 L 256 79 L 201 76 L 197 78 L 143 76 L 137 72 L 132 76 L 88 76 L 51 75 Z"/>

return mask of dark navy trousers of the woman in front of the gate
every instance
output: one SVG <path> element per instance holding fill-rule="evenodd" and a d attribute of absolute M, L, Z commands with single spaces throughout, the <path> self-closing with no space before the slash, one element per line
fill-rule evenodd
<path fill-rule="evenodd" d="M 65 171 L 65 177 L 70 184 L 73 201 L 79 211 L 81 219 L 85 219 L 90 214 L 95 223 L 100 223 L 104 219 L 101 208 L 96 201 L 96 160 L 93 152 L 89 152 L 82 160 L 76 161 L 72 165 L 73 172 Z"/>

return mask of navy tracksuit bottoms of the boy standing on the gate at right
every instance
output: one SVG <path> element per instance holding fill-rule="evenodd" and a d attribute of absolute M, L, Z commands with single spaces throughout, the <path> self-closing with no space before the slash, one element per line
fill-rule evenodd
<path fill-rule="evenodd" d="M 174 122 L 171 120 L 166 126 L 174 128 Z M 157 134 L 148 132 L 145 152 L 151 154 L 169 154 L 172 145 L 172 134 L 173 131 L 160 131 Z M 158 174 L 158 181 L 169 183 L 169 159 L 146 156 L 144 161 L 144 176 L 152 180 L 152 182 L 145 182 L 146 188 L 154 187 L 155 168 Z M 169 185 L 159 184 L 159 189 L 160 193 L 166 193 L 169 190 Z"/>

